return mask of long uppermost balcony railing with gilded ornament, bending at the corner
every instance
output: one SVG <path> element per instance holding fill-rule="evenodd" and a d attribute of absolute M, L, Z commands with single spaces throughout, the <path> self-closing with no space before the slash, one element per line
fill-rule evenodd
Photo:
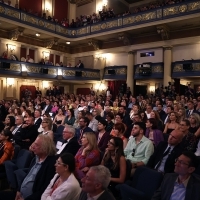
<path fill-rule="evenodd" d="M 26 24 L 31 27 L 47 30 L 67 38 L 78 38 L 85 35 L 93 35 L 98 32 L 121 29 L 127 26 L 149 23 L 151 21 L 165 20 L 168 18 L 179 17 L 199 13 L 200 1 L 187 1 L 172 4 L 165 7 L 140 12 L 124 17 L 113 18 L 111 20 L 98 22 L 79 28 L 66 28 L 54 22 L 37 17 L 30 13 L 25 13 L 19 9 L 0 3 L 0 16 L 13 21 Z"/>

